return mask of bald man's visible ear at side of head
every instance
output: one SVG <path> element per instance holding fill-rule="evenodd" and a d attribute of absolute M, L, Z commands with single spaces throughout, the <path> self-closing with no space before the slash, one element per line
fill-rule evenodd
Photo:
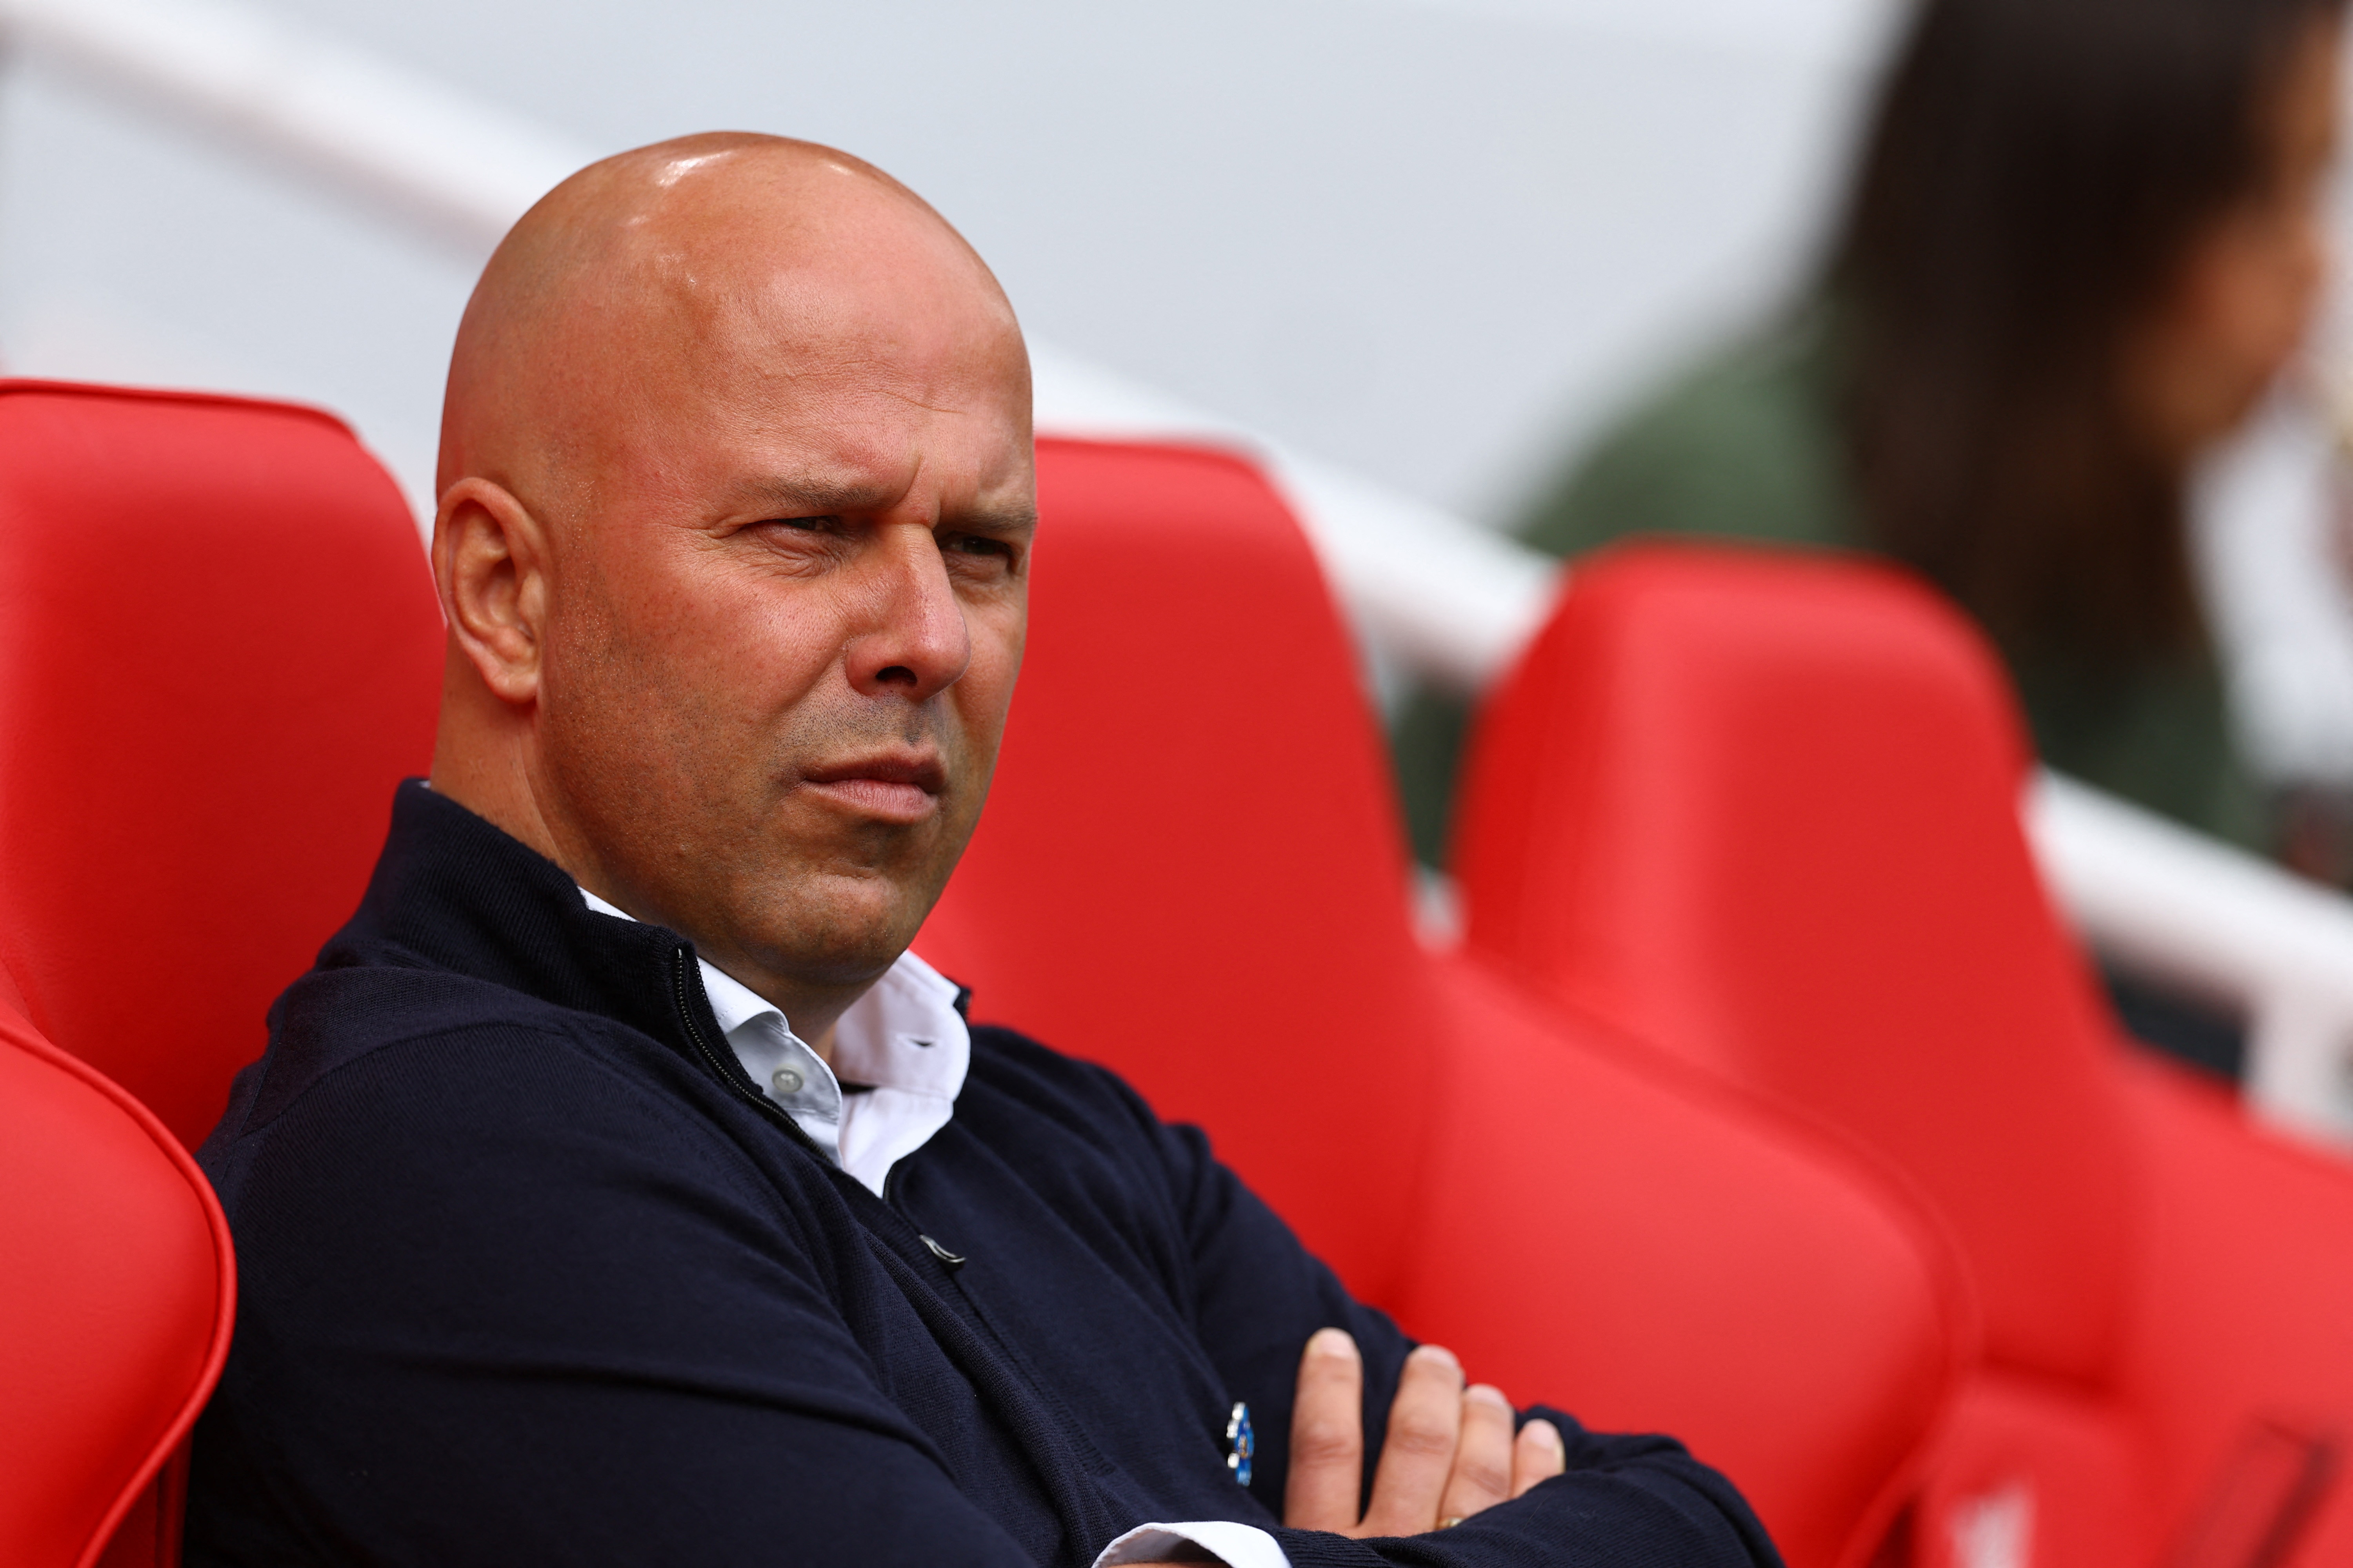
<path fill-rule="evenodd" d="M 442 618 L 482 684 L 508 703 L 539 696 L 546 646 L 548 534 L 489 480 L 459 480 L 433 515 Z"/>

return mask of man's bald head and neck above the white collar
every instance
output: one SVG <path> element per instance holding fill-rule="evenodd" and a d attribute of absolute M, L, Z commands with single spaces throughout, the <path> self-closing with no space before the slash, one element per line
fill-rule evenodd
<path fill-rule="evenodd" d="M 962 853 L 1021 658 L 995 277 L 831 148 L 609 158 L 485 268 L 440 491 L 433 788 L 824 1039 Z"/>

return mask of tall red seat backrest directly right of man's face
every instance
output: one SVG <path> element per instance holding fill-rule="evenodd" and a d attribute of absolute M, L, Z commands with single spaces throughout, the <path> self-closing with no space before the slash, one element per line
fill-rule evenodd
<path fill-rule="evenodd" d="M 1379 731 L 1315 557 L 1217 451 L 1042 440 L 1038 503 L 988 811 L 915 945 L 976 987 L 974 1016 L 1217 1128 L 1379 1293 L 1435 1013 Z M 1384 1157 L 1334 1182 L 1301 1105 Z"/>

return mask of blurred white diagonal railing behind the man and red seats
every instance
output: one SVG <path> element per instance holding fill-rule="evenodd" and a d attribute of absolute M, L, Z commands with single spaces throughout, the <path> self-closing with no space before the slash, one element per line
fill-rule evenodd
<path fill-rule="evenodd" d="M 0 0 L 0 40 L 473 252 L 595 155 L 221 0 Z M 1045 430 L 1257 449 L 1384 656 L 1475 691 L 1544 621 L 1558 569 L 1520 545 L 1033 348 Z M 2353 900 L 2061 778 L 2031 790 L 2026 820 L 2057 898 L 2101 952 L 2249 1018 L 2257 1110 L 2353 1143 Z"/>

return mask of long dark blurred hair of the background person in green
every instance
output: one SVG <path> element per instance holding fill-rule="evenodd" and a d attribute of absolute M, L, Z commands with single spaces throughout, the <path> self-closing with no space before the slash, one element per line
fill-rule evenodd
<path fill-rule="evenodd" d="M 1925 0 L 1828 256 L 1866 538 L 2012 651 L 2205 630 L 2181 461 L 2127 331 L 2271 176 L 2268 113 L 2344 0 Z"/>

